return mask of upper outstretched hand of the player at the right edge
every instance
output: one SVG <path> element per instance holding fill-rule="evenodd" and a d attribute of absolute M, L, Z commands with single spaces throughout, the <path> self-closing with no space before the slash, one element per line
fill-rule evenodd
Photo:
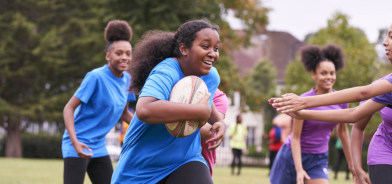
<path fill-rule="evenodd" d="M 271 98 L 269 104 L 281 113 L 295 112 L 306 109 L 306 101 L 303 97 L 299 97 L 294 93 L 286 93 L 282 98 Z"/>

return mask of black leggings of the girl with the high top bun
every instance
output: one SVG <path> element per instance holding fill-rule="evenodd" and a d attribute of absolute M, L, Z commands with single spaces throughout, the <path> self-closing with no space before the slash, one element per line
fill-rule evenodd
<path fill-rule="evenodd" d="M 86 171 L 93 184 L 110 184 L 113 165 L 109 155 L 89 159 L 64 158 L 64 184 L 83 184 Z"/>

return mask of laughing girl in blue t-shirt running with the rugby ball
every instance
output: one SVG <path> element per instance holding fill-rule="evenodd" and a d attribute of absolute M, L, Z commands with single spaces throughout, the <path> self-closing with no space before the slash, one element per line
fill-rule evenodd
<path fill-rule="evenodd" d="M 209 122 L 207 140 L 217 148 L 225 124 L 212 98 L 219 85 L 219 27 L 205 20 L 184 23 L 176 33 L 147 31 L 136 44 L 128 72 L 131 91 L 139 93 L 136 112 L 125 133 L 112 184 L 212 184 L 208 164 L 201 156 L 199 130 L 184 138 L 173 137 L 165 123 L 190 119 Z M 181 78 L 199 76 L 209 89 L 199 104 L 170 102 L 170 91 Z"/>

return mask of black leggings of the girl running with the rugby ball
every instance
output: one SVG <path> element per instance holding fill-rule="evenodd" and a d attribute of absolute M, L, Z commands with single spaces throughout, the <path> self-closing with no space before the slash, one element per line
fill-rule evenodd
<path fill-rule="evenodd" d="M 192 161 L 183 164 L 156 184 L 214 184 L 205 164 Z"/>

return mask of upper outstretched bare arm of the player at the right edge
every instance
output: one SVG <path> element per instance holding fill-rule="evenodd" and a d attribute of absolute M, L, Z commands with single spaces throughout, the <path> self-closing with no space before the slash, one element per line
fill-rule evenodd
<path fill-rule="evenodd" d="M 299 97 L 289 93 L 282 95 L 283 98 L 271 98 L 268 101 L 277 111 L 289 113 L 310 107 L 359 102 L 391 91 L 392 83 L 384 79 L 367 86 L 352 87 L 323 95 Z"/>

